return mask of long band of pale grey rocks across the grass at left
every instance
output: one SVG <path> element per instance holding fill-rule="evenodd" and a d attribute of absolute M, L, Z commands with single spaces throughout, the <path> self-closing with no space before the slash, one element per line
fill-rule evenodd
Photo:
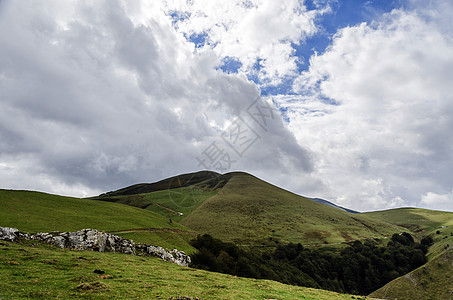
<path fill-rule="evenodd" d="M 119 252 L 135 255 L 137 249 L 146 255 L 154 255 L 180 266 L 187 267 L 190 264 L 190 257 L 184 251 L 178 251 L 177 249 L 166 251 L 162 247 L 146 244 L 135 245 L 132 240 L 96 229 L 82 229 L 75 232 L 56 231 L 28 234 L 20 232 L 17 228 L 0 227 L 0 240 L 16 242 L 19 238 L 44 241 L 59 248 L 76 250 Z"/>

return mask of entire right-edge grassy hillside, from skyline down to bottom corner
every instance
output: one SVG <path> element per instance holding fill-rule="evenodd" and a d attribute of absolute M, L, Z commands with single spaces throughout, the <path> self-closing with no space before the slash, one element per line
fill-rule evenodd
<path fill-rule="evenodd" d="M 430 235 L 434 240 L 434 245 L 429 248 L 427 264 L 389 282 L 370 296 L 383 299 L 451 299 L 453 213 L 398 208 L 365 215 L 407 227 L 418 238 Z"/>

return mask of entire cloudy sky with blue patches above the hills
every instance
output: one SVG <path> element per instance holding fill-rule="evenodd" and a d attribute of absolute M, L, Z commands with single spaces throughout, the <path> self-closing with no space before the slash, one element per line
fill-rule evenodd
<path fill-rule="evenodd" d="M 0 188 L 209 169 L 453 211 L 450 0 L 1 0 Z"/>

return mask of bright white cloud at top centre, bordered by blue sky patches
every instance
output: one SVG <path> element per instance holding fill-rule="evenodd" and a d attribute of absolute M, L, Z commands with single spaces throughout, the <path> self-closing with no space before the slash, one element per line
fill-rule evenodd
<path fill-rule="evenodd" d="M 256 72 L 260 81 L 277 85 L 285 76 L 295 76 L 297 60 L 291 43 L 299 44 L 317 32 L 315 18 L 329 7 L 307 10 L 297 0 L 166 1 L 165 11 L 177 15 L 175 27 L 187 37 L 205 34 L 220 57 L 234 57 L 242 71 Z M 201 51 L 202 51 L 201 50 Z"/>

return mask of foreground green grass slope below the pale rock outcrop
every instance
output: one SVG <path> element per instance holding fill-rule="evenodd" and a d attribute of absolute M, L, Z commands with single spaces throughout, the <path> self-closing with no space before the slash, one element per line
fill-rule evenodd
<path fill-rule="evenodd" d="M 102 279 L 94 269 L 113 278 Z M 237 278 L 157 258 L 0 243 L 0 299 L 351 299 L 350 295 Z M 356 297 L 356 299 L 360 299 Z"/>

